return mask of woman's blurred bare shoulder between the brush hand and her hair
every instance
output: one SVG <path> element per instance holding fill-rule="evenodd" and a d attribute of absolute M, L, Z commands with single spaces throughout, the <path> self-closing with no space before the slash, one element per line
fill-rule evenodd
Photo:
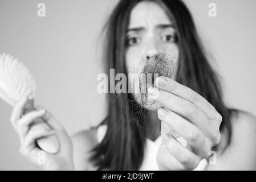
<path fill-rule="evenodd" d="M 72 135 L 72 143 L 74 147 L 74 164 L 76 170 L 94 170 L 95 167 L 90 161 L 92 150 L 97 145 L 97 129 L 79 131 Z"/>

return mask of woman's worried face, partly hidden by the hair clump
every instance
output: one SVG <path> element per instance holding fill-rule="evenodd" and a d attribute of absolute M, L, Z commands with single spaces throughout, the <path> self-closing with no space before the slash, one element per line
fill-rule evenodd
<path fill-rule="evenodd" d="M 176 31 L 172 21 L 160 5 L 147 1 L 138 3 L 131 12 L 126 38 L 125 64 L 128 73 L 143 73 L 145 65 L 155 61 L 149 59 L 150 57 L 157 53 L 164 53 L 165 57 L 168 57 L 169 63 L 167 64 L 174 67 L 174 74 L 171 76 L 174 79 L 178 61 Z M 154 72 L 155 68 L 151 69 L 151 72 Z M 156 70 L 159 69 L 156 68 Z M 160 73 L 161 75 L 164 76 Z M 129 79 L 129 84 L 132 84 L 130 81 L 131 79 Z M 155 110 L 160 107 L 156 103 L 145 104 L 141 101 L 141 94 L 137 94 L 141 92 L 138 84 L 135 83 L 133 89 L 133 97 L 138 103 L 147 109 Z"/>

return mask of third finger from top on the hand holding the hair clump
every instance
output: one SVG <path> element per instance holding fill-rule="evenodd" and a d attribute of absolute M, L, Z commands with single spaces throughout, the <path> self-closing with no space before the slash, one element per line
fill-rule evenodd
<path fill-rule="evenodd" d="M 205 136 L 198 127 L 186 121 L 180 115 L 162 108 L 158 110 L 158 117 L 183 137 L 197 155 L 202 158 L 208 156 L 211 146 L 206 143 Z"/>

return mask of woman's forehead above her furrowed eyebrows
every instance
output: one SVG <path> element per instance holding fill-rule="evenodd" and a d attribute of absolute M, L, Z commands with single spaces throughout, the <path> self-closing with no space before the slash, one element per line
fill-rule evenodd
<path fill-rule="evenodd" d="M 156 27 L 157 24 L 172 24 L 172 22 L 158 3 L 143 1 L 133 8 L 128 28 Z"/>

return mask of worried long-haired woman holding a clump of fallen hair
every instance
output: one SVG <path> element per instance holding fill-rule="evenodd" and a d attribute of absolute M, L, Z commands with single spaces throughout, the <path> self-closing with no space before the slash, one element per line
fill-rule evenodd
<path fill-rule="evenodd" d="M 99 127 L 74 135 L 72 142 L 40 107 L 22 115 L 23 100 L 11 121 L 26 158 L 41 169 L 256 169 L 255 117 L 224 104 L 184 3 L 121 0 L 105 29 L 107 73 L 115 69 L 160 77 L 153 87 L 146 86 L 145 94 L 107 94 L 107 117 Z M 38 117 L 52 131 L 30 129 Z M 39 165 L 35 139 L 52 134 L 60 140 L 60 151 L 45 154 L 46 163 Z M 205 163 L 210 154 L 216 158 L 214 165 Z"/>

